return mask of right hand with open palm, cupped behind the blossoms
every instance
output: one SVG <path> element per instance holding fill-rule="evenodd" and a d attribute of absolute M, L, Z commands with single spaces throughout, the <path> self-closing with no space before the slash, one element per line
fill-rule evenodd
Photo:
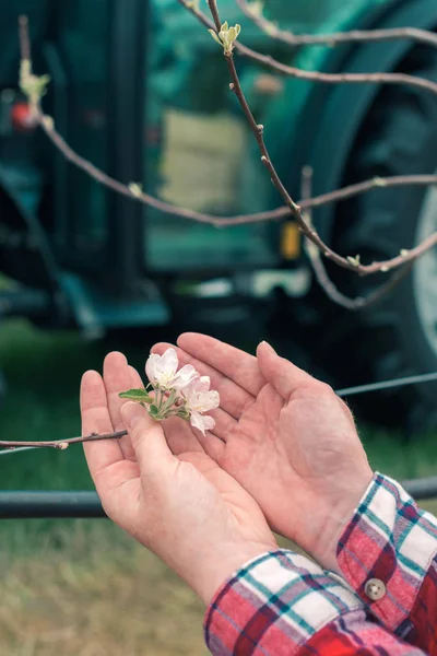
<path fill-rule="evenodd" d="M 253 496 L 273 530 L 340 572 L 338 541 L 373 478 L 346 405 L 265 342 L 258 358 L 197 333 L 178 344 L 180 363 L 210 376 L 221 397 L 215 427 L 197 432 L 199 444 Z"/>

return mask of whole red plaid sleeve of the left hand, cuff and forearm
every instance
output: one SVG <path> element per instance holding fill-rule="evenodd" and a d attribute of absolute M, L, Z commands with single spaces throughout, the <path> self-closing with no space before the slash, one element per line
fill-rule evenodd
<path fill-rule="evenodd" d="M 340 577 L 285 550 L 249 562 L 223 585 L 204 632 L 214 656 L 424 655 L 380 626 Z"/>

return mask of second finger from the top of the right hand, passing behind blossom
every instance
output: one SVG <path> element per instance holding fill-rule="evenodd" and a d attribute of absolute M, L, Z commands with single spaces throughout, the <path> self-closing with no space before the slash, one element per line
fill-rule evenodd
<path fill-rule="evenodd" d="M 221 408 L 234 417 L 238 419 L 240 414 L 246 410 L 249 406 L 251 406 L 255 401 L 255 397 L 249 394 L 246 389 L 243 389 L 239 385 L 215 371 L 212 366 L 204 364 L 200 360 L 197 360 L 189 353 L 186 353 L 182 349 L 174 347 L 173 344 L 167 343 L 158 343 L 155 344 L 152 349 L 153 353 L 164 353 L 169 347 L 176 349 L 178 354 L 179 364 L 184 366 L 185 364 L 192 364 L 194 368 L 202 376 L 210 376 L 211 378 L 211 389 L 216 389 L 220 394 L 220 405 Z"/>

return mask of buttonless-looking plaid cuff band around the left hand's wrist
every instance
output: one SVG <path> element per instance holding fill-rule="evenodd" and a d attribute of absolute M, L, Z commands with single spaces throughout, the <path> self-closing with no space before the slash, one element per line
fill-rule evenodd
<path fill-rule="evenodd" d="M 357 609 L 357 595 L 304 555 L 267 552 L 217 591 L 205 616 L 205 642 L 221 656 L 292 656 L 320 629 Z"/>

